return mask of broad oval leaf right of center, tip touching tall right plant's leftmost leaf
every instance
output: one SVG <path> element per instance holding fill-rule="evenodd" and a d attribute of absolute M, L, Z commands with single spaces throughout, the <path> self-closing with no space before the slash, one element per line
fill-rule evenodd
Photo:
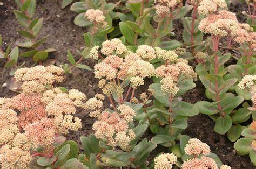
<path fill-rule="evenodd" d="M 199 113 L 198 108 L 187 102 L 180 101 L 178 104 L 176 104 L 175 107 L 172 108 L 174 114 L 180 115 L 180 116 L 195 116 Z"/>

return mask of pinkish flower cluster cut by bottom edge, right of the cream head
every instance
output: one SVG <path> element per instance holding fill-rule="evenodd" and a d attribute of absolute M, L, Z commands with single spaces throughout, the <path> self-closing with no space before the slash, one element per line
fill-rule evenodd
<path fill-rule="evenodd" d="M 188 144 L 185 146 L 184 151 L 187 155 L 190 155 L 192 159 L 188 159 L 184 161 L 181 165 L 183 169 L 191 169 L 191 168 L 212 168 L 218 169 L 218 165 L 215 160 L 211 157 L 206 157 L 211 153 L 210 147 L 206 143 L 202 143 L 197 138 L 192 138 L 188 140 Z M 227 165 L 222 165 L 221 169 L 231 167 Z"/>

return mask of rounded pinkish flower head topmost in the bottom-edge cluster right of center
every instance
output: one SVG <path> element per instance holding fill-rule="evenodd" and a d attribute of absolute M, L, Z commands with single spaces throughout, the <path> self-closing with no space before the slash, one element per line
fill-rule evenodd
<path fill-rule="evenodd" d="M 197 138 L 188 140 L 188 144 L 185 146 L 184 151 L 188 155 L 195 156 L 199 156 L 200 154 L 204 154 L 206 156 L 211 153 L 210 147 Z"/>

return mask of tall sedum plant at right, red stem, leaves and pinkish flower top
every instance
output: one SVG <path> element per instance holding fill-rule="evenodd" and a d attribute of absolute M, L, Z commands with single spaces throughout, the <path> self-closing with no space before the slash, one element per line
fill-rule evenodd
<path fill-rule="evenodd" d="M 216 8 L 212 8 L 213 5 L 207 5 L 207 3 L 215 3 Z M 219 134 L 228 132 L 228 138 L 234 142 L 240 137 L 244 128 L 239 123 L 247 121 L 251 116 L 251 111 L 246 109 L 246 104 L 235 110 L 244 101 L 244 97 L 231 93 L 233 86 L 240 79 L 227 74 L 228 70 L 234 72 L 231 67 L 226 68 L 224 65 L 230 59 L 231 54 L 220 52 L 220 41 L 225 43 L 227 40 L 228 46 L 232 39 L 236 42 L 241 39 L 247 41 L 241 33 L 245 32 L 249 37 L 254 33 L 250 32 L 250 26 L 238 23 L 234 13 L 221 9 L 225 6 L 225 1 L 199 3 L 198 9 L 201 10 L 198 12 L 205 15 L 205 18 L 200 21 L 198 29 L 211 34 L 211 37 L 207 38 L 210 42 L 210 49 L 207 50 L 206 62 L 198 64 L 196 71 L 206 88 L 206 96 L 213 102 L 200 101 L 196 105 L 201 113 L 209 115 L 215 121 L 215 132 Z M 248 41 L 249 44 L 253 44 L 252 38 Z"/>

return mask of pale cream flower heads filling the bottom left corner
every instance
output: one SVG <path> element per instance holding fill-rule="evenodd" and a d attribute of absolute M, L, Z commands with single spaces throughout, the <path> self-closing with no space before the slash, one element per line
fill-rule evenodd
<path fill-rule="evenodd" d="M 19 132 L 14 110 L 0 109 L 0 165 L 2 168 L 28 168 L 32 143 Z"/>

